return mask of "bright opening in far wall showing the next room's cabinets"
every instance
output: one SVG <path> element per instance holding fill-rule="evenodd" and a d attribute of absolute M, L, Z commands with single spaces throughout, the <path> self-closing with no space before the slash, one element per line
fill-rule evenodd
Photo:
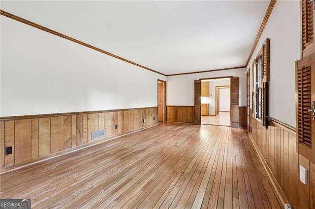
<path fill-rule="evenodd" d="M 201 80 L 201 124 L 230 126 L 230 78 Z"/>

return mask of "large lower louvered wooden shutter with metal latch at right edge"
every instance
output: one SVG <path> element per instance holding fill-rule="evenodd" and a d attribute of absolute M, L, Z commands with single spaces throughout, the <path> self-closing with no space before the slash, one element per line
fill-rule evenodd
<path fill-rule="evenodd" d="M 298 152 L 315 162 L 315 53 L 295 63 Z"/>

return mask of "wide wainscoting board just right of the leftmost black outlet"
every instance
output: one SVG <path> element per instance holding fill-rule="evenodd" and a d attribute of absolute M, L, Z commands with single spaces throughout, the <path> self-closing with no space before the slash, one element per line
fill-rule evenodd
<path fill-rule="evenodd" d="M 14 163 L 32 158 L 31 119 L 17 120 L 14 123 Z"/>

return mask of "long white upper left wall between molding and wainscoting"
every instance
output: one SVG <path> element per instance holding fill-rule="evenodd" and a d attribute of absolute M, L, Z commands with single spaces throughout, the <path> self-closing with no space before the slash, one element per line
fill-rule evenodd
<path fill-rule="evenodd" d="M 157 106 L 166 77 L 0 18 L 0 116 Z"/>

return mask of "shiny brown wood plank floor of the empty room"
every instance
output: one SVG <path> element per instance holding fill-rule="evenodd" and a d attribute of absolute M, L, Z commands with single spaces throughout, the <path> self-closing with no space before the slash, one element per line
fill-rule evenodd
<path fill-rule="evenodd" d="M 35 208 L 280 208 L 246 132 L 164 123 L 2 174 Z"/>

